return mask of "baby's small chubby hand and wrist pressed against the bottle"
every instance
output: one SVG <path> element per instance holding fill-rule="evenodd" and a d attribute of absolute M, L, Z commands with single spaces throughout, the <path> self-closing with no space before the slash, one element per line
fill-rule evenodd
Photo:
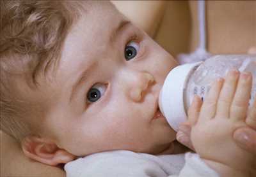
<path fill-rule="evenodd" d="M 251 88 L 251 74 L 232 71 L 225 82 L 214 82 L 204 103 L 195 97 L 189 108 L 191 141 L 200 157 L 216 171 L 247 174 L 255 168 L 255 155 L 239 148 L 232 138 L 237 128 L 256 129 L 256 101 L 248 111 Z"/>

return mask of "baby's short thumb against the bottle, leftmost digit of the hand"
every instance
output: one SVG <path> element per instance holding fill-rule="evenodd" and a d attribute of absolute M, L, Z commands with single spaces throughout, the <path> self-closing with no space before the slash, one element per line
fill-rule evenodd
<path fill-rule="evenodd" d="M 188 110 L 188 121 L 191 124 L 191 126 L 196 124 L 201 106 L 202 106 L 202 101 L 200 97 L 195 95 L 193 98 L 193 102 Z"/>

